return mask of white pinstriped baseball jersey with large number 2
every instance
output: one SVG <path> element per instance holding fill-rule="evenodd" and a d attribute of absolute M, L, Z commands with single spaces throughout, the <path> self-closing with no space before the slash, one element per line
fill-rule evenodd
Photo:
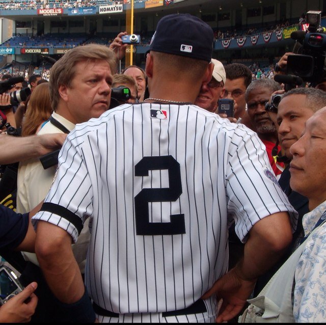
<path fill-rule="evenodd" d="M 117 313 L 188 307 L 227 271 L 228 222 L 246 239 L 290 211 L 257 134 L 195 105 L 125 104 L 77 124 L 40 211 L 76 240 L 91 218 L 86 285 Z"/>

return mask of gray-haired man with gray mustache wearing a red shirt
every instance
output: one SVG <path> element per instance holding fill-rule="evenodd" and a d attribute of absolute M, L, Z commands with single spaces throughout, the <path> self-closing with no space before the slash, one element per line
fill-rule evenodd
<path fill-rule="evenodd" d="M 265 104 L 269 101 L 272 93 L 281 90 L 280 84 L 273 79 L 257 79 L 248 86 L 246 90 L 246 102 L 248 107 L 248 114 L 256 129 L 258 137 L 266 147 L 269 162 L 276 176 L 280 175 L 282 171 L 275 164 L 272 150 L 278 140 L 276 126 L 270 119 L 265 110 Z M 278 152 L 280 151 L 278 148 Z"/>

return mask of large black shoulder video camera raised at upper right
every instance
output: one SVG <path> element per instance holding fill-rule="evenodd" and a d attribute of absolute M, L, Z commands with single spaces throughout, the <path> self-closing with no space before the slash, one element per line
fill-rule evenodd
<path fill-rule="evenodd" d="M 307 32 L 295 31 L 293 53 L 287 57 L 286 73 L 301 77 L 305 82 L 316 85 L 326 77 L 326 34 L 320 26 L 321 11 L 308 11 Z"/>

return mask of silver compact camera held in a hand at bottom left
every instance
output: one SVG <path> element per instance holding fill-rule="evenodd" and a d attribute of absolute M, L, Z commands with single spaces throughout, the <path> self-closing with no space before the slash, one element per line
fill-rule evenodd
<path fill-rule="evenodd" d="M 5 304 L 23 289 L 13 270 L 5 265 L 0 266 L 0 305 Z"/>

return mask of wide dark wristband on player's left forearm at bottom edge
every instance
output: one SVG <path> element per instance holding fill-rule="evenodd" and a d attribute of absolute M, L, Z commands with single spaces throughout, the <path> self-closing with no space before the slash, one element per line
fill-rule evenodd
<path fill-rule="evenodd" d="M 87 288 L 85 287 L 84 295 L 73 304 L 64 304 L 58 299 L 57 304 L 60 308 L 60 322 L 64 323 L 94 323 L 96 315 L 92 307 L 91 299 L 88 296 Z"/>

